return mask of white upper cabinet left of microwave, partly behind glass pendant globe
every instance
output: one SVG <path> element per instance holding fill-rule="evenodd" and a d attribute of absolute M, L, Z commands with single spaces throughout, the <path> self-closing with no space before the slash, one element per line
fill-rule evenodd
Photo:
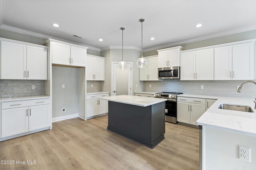
<path fill-rule="evenodd" d="M 140 81 L 154 81 L 158 79 L 158 57 L 145 57 L 148 60 L 146 68 L 140 68 Z"/>

